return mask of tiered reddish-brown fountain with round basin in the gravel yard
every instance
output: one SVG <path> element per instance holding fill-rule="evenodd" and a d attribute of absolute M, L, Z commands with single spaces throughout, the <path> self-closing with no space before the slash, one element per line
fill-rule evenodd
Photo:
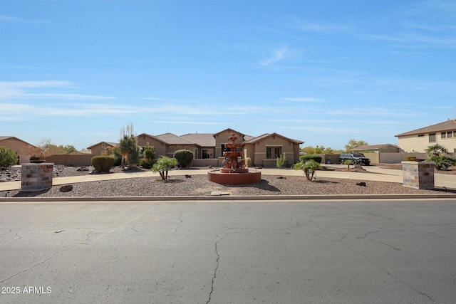
<path fill-rule="evenodd" d="M 236 143 L 237 137 L 232 133 L 228 137 L 230 142 L 225 144 L 227 151 L 223 152 L 225 160 L 223 167 L 219 172 L 207 172 L 209 182 L 218 184 L 254 184 L 261 181 L 261 172 L 249 172 L 245 167 L 245 159 L 239 157 L 244 156 L 243 152 L 237 152 L 237 148 L 242 147 L 242 144 Z"/>

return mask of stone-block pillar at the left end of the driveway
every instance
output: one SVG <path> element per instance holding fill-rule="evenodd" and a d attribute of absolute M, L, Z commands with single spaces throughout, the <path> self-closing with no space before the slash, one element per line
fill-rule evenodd
<path fill-rule="evenodd" d="M 33 192 L 52 187 L 53 163 L 22 164 L 21 191 Z"/>

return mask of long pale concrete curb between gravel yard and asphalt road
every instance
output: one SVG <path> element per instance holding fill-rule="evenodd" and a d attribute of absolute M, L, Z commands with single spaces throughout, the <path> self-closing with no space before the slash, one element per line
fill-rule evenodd
<path fill-rule="evenodd" d="M 348 195 L 256 195 L 256 196 L 50 196 L 0 197 L 1 203 L 14 202 L 78 202 L 78 201 L 282 201 L 282 200 L 334 200 L 334 199 L 456 199 L 456 194 L 348 194 Z"/>

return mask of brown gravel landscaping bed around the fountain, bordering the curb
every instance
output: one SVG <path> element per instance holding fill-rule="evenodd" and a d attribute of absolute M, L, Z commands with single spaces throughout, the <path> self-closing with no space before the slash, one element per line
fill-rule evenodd
<path fill-rule="evenodd" d="M 57 166 L 56 166 L 57 167 Z M 58 167 L 55 178 L 89 174 L 89 171 L 77 171 L 77 167 Z M 91 168 L 89 168 L 90 170 Z M 134 168 L 133 170 L 141 170 Z M 192 174 L 189 170 L 188 174 Z M 111 169 L 111 172 L 121 172 L 120 168 Z M 187 172 L 186 172 L 187 173 Z M 127 174 L 127 173 L 125 173 Z M 357 183 L 366 182 L 366 187 Z M 318 178 L 308 181 L 306 177 L 263 174 L 261 182 L 246 185 L 222 185 L 207 181 L 207 176 L 193 174 L 192 177 L 173 176 L 163 181 L 156 177 L 140 177 L 115 179 L 103 182 L 83 182 L 71 184 L 70 192 L 61 192 L 61 186 L 54 186 L 43 192 L 20 192 L 19 190 L 0 192 L 1 197 L 26 196 L 211 196 L 211 192 L 228 192 L 234 196 L 255 195 L 331 195 L 331 194 L 436 194 L 444 189 L 413 189 L 403 187 L 402 184 L 390 182 L 371 182 L 353 179 Z M 449 193 L 456 193 L 447 189 Z"/>

